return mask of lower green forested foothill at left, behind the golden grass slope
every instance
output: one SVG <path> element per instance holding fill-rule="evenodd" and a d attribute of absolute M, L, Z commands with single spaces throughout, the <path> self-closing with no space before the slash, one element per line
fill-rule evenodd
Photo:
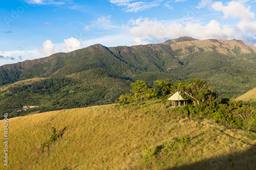
<path fill-rule="evenodd" d="M 121 94 L 129 92 L 129 82 L 119 77 L 110 77 L 109 72 L 104 70 L 91 70 L 70 78 L 56 77 L 19 84 L 0 91 L 0 110 L 15 117 L 33 112 L 111 104 Z M 22 106 L 33 105 L 39 107 L 17 112 Z"/>

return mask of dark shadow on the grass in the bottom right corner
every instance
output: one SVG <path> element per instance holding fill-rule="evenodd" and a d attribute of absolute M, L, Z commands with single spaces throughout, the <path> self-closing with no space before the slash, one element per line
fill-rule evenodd
<path fill-rule="evenodd" d="M 200 162 L 195 162 L 182 166 L 174 166 L 164 168 L 163 170 L 174 169 L 244 169 L 255 170 L 256 169 L 256 145 L 241 153 L 233 153 L 214 157 L 211 159 L 205 159 Z"/>

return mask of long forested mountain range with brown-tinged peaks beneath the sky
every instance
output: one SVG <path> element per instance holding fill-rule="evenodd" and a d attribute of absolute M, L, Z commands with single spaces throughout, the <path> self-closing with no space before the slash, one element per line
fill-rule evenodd
<path fill-rule="evenodd" d="M 95 44 L 0 66 L 0 103 L 5 105 L 1 109 L 40 105 L 52 110 L 109 104 L 138 79 L 153 85 L 156 80 L 200 78 L 220 97 L 237 98 L 256 86 L 255 68 L 256 47 L 241 40 L 180 37 L 160 44 Z M 10 86 L 33 78 L 47 79 Z"/>

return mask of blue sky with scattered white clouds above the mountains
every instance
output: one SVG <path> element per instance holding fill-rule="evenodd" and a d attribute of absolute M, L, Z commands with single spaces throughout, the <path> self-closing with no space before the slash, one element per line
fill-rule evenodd
<path fill-rule="evenodd" d="M 9 0 L 0 5 L 0 65 L 105 46 L 191 36 L 256 45 L 256 1 Z"/>

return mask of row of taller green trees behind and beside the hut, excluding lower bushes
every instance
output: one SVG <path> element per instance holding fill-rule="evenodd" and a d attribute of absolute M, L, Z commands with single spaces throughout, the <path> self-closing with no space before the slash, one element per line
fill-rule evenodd
<path fill-rule="evenodd" d="M 125 105 L 139 101 L 141 105 L 142 100 L 156 97 L 166 98 L 176 91 L 180 91 L 184 98 L 191 99 L 194 105 L 205 105 L 216 100 L 218 97 L 216 90 L 207 81 L 201 79 L 190 79 L 185 82 L 178 81 L 177 84 L 174 84 L 171 79 L 167 79 L 166 81 L 157 80 L 154 82 L 154 85 L 157 88 L 148 87 L 145 82 L 137 80 L 131 84 L 131 92 L 133 93 L 121 95 L 119 103 Z"/>

